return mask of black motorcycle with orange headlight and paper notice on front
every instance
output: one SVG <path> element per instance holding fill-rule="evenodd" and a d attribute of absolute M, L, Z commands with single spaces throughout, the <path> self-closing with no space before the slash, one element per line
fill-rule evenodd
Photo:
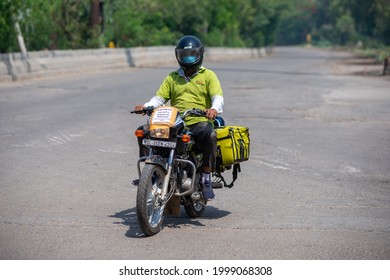
<path fill-rule="evenodd" d="M 142 232 L 146 236 L 160 232 L 169 209 L 178 216 L 181 205 L 190 218 L 200 217 L 207 205 L 200 184 L 203 155 L 185 120 L 204 116 L 203 110 L 191 109 L 180 115 L 177 108 L 162 106 L 131 113 L 149 116 L 147 128 L 135 132 L 148 151 L 137 162 L 136 212 Z M 213 188 L 221 187 L 221 181 L 214 180 Z"/>

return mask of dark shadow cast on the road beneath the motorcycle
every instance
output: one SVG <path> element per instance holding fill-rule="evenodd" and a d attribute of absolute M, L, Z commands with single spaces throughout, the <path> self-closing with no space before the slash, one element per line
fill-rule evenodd
<path fill-rule="evenodd" d="M 192 226 L 203 227 L 205 225 L 202 224 L 202 220 L 220 219 L 228 216 L 229 214 L 231 214 L 231 212 L 220 210 L 214 206 L 207 206 L 202 217 L 192 219 L 187 216 L 187 214 L 184 211 L 184 208 L 181 207 L 180 217 L 166 216 L 164 218 L 163 227 L 168 227 L 168 228 L 183 228 L 183 227 L 192 227 Z M 119 218 L 122 220 L 122 221 L 114 222 L 114 224 L 123 224 L 129 226 L 129 229 L 125 234 L 127 237 L 131 237 L 131 238 L 145 237 L 145 235 L 141 231 L 141 228 L 139 227 L 138 220 L 137 220 L 137 212 L 135 207 L 117 212 L 114 215 L 110 215 L 109 217 L 116 218 L 116 219 Z"/>

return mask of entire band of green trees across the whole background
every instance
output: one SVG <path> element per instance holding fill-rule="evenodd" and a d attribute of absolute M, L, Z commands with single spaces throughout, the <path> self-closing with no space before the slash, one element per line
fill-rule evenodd
<path fill-rule="evenodd" d="M 390 0 L 0 0 L 0 51 L 172 45 L 185 34 L 206 46 L 317 42 L 390 44 Z M 99 4 L 99 3 L 98 3 Z M 104 17 L 103 17 L 104 15 Z"/>

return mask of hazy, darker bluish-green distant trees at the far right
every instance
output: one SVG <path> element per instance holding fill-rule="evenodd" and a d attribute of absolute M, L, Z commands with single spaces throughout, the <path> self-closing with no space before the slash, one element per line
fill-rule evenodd
<path fill-rule="evenodd" d="M 291 0 L 278 43 L 303 43 L 308 33 L 317 42 L 390 45 L 390 0 Z"/>

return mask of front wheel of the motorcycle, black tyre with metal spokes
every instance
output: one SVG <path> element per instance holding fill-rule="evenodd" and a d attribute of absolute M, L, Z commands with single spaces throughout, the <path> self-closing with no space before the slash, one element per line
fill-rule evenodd
<path fill-rule="evenodd" d="M 142 170 L 137 191 L 137 217 L 146 236 L 157 234 L 162 227 L 165 203 L 158 201 L 165 172 L 161 166 L 147 164 Z"/>

